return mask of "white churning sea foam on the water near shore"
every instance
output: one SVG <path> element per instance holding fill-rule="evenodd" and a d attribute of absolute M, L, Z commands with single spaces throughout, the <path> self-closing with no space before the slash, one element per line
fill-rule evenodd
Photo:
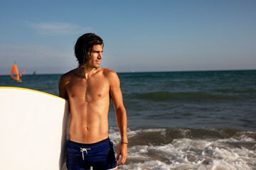
<path fill-rule="evenodd" d="M 128 130 L 127 134 L 128 137 L 134 137 L 147 132 L 166 135 L 164 129 Z M 188 130 L 184 130 L 183 133 L 189 135 Z M 113 130 L 110 136 L 116 144 L 119 142 L 119 132 Z M 119 166 L 119 169 L 250 170 L 256 165 L 256 152 L 255 149 L 236 147 L 241 141 L 256 144 L 255 140 L 241 134 L 236 139 L 233 137 L 215 140 L 179 138 L 168 144 L 132 145 L 128 148 L 127 162 Z"/>

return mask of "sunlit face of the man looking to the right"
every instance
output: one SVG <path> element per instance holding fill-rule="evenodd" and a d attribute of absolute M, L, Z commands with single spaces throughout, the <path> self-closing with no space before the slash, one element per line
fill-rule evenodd
<path fill-rule="evenodd" d="M 92 57 L 87 62 L 86 66 L 91 68 L 99 68 L 100 67 L 100 61 L 102 60 L 102 45 L 93 45 L 92 47 Z M 90 54 L 88 54 L 90 55 Z"/>

